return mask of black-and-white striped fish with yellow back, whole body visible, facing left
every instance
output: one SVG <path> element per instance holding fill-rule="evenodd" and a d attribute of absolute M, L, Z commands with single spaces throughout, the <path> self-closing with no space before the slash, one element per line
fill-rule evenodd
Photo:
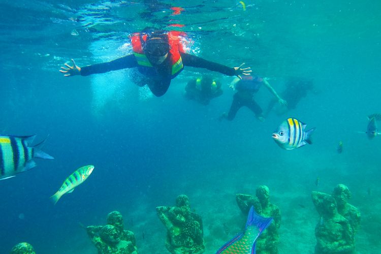
<path fill-rule="evenodd" d="M 286 150 L 311 144 L 311 135 L 316 128 L 305 131 L 306 125 L 296 118 L 288 118 L 279 125 L 278 130 L 272 134 L 272 138 Z"/>

